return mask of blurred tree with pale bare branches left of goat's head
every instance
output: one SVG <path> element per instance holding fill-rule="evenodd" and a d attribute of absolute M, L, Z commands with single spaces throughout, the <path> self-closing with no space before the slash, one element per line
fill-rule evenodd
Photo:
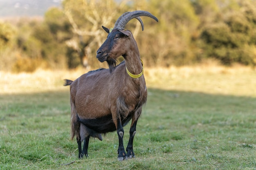
<path fill-rule="evenodd" d="M 101 46 L 107 34 L 101 25 L 111 27 L 127 1 L 117 4 L 115 0 L 65 0 L 63 1 L 64 13 L 72 25 L 73 36 L 67 40 L 69 47 L 67 57 L 70 66 L 74 67 L 74 60 L 83 66 L 93 65 L 96 62 L 96 50 Z M 100 10 L 99 10 L 100 9 Z M 73 49 L 73 51 L 72 51 Z M 78 55 L 77 55 L 78 54 Z M 77 59 L 79 57 L 79 59 Z"/>

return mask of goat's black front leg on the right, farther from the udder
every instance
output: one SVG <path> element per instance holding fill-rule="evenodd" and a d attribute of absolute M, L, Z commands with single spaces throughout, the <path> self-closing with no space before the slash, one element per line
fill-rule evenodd
<path fill-rule="evenodd" d="M 129 138 L 128 145 L 126 148 L 128 158 L 135 157 L 134 152 L 133 152 L 133 138 L 136 133 L 136 125 L 137 125 L 137 120 L 135 121 L 134 119 L 132 119 L 132 124 L 130 127 L 130 138 Z"/>

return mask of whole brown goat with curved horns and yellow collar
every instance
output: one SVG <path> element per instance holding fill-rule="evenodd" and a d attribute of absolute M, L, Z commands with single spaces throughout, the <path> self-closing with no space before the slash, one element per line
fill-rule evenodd
<path fill-rule="evenodd" d="M 136 18 L 143 31 L 144 25 L 139 16 L 148 16 L 158 22 L 157 18 L 147 11 L 132 11 L 121 15 L 114 28 L 102 26 L 108 37 L 97 50 L 97 59 L 100 62 L 106 61 L 109 69 L 90 71 L 74 82 L 65 79 L 64 86 L 70 85 L 71 138 L 76 136 L 79 158 L 84 155 L 88 157 L 90 137 L 102 140 L 101 134 L 115 130 L 119 138 L 118 160 L 135 157 L 133 138 L 142 106 L 146 103 L 147 88 L 137 43 L 132 33 L 124 29 L 124 26 L 132 18 Z M 116 65 L 119 56 L 123 56 L 124 61 Z M 130 120 L 132 122 L 126 154 L 123 126 Z"/>

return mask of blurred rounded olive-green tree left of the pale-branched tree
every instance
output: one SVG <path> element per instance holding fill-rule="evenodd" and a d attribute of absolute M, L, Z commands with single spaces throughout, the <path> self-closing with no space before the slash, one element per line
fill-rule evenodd
<path fill-rule="evenodd" d="M 41 55 L 50 68 L 67 67 L 65 42 L 72 38 L 71 24 L 59 8 L 50 8 L 44 22 L 34 29 L 32 36 L 41 42 Z"/>

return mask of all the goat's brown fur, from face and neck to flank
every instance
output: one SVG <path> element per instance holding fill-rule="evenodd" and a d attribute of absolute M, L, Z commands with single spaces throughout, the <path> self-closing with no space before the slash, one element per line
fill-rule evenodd
<path fill-rule="evenodd" d="M 126 73 L 125 66 L 130 71 L 134 70 L 134 74 L 140 73 L 142 66 L 137 43 L 130 31 L 125 32 L 129 36 L 119 35 L 123 37 L 108 53 L 112 59 L 124 56 L 125 62 L 116 66 L 115 71 L 110 73 L 109 69 L 100 69 L 81 75 L 74 82 L 66 80 L 65 85 L 70 85 L 72 138 L 79 136 L 77 115 L 83 119 L 97 119 L 112 114 L 117 125 L 116 119 L 125 118 L 131 113 L 137 114 L 137 109 L 146 102 L 144 75 L 135 79 Z M 104 43 L 101 47 L 108 48 L 108 45 Z M 135 115 L 135 119 L 138 117 Z"/>

